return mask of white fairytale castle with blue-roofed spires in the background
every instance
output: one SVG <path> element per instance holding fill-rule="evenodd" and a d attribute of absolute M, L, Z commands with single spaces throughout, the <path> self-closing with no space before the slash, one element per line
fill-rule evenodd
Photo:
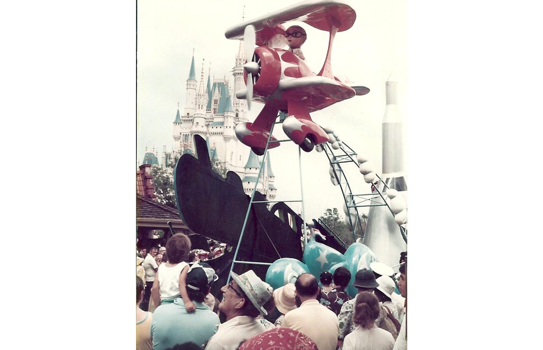
<path fill-rule="evenodd" d="M 226 79 L 213 79 L 211 72 L 207 75 L 207 84 L 204 83 L 204 65 L 202 64 L 200 81 L 197 82 L 194 69 L 194 53 L 192 55 L 191 69 L 188 73 L 186 85 L 186 101 L 183 113 L 178 110 L 173 122 L 173 150 L 162 151 L 162 166 L 172 160 L 175 155 L 185 153 L 194 154 L 194 135 L 200 135 L 207 142 L 211 162 L 219 162 L 227 170 L 235 171 L 242 179 L 243 190 L 251 195 L 252 189 L 260 171 L 260 157 L 247 146 L 238 141 L 235 135 L 236 125 L 248 122 L 247 101 L 236 98 L 236 92 L 245 88 L 243 80 L 243 65 L 245 54 L 243 41 L 239 42 L 235 66 L 232 71 L 233 90 Z M 257 190 L 268 200 L 274 200 L 277 189 L 274 185 L 275 176 L 271 170 L 270 156 L 263 164 L 261 179 Z M 159 165 L 158 157 L 153 152 L 144 156 L 143 164 Z"/>

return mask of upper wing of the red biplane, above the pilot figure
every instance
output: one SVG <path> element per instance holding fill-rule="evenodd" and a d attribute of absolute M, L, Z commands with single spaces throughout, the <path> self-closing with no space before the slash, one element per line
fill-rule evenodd
<path fill-rule="evenodd" d="M 356 20 L 356 12 L 348 3 L 341 0 L 311 0 L 299 2 L 281 10 L 269 12 L 264 16 L 254 18 L 230 27 L 224 35 L 226 39 L 243 39 L 245 27 L 252 24 L 255 30 L 263 30 L 269 27 L 279 26 L 285 22 L 300 21 L 310 26 L 329 31 L 329 23 L 326 16 L 330 15 L 339 22 L 338 31 L 344 31 L 352 27 Z"/>

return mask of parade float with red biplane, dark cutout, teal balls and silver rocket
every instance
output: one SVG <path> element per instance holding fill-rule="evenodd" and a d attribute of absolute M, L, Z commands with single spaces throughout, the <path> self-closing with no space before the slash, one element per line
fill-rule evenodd
<path fill-rule="evenodd" d="M 396 267 L 400 252 L 407 250 L 407 185 L 402 168 L 402 125 L 395 107 L 396 82 L 393 78 L 386 82 L 382 129 L 386 176 L 378 175 L 371 160 L 357 154 L 332 128 L 322 128 L 310 116 L 313 111 L 370 92 L 367 87 L 336 77 L 332 71 L 334 37 L 351 28 L 355 20 L 355 10 L 345 2 L 306 1 L 226 30 L 227 39 L 243 40 L 247 57 L 243 67 L 247 88 L 236 97 L 247 99 L 249 108 L 252 101 L 264 104 L 254 122 L 238 124 L 235 129 L 239 141 L 262 156 L 257 179 L 268 150 L 282 142 L 298 145 L 300 174 L 301 151 L 321 152 L 323 161 L 330 164 L 332 183 L 341 190 L 346 220 L 356 242 L 346 246 L 317 220 L 306 219 L 301 176 L 298 202 L 302 215 L 298 215 L 285 202 L 266 200 L 256 190 L 258 182 L 248 196 L 235 172 L 229 171 L 226 179 L 214 173 L 205 140 L 194 135 L 195 155 L 182 155 L 174 169 L 175 198 L 179 215 L 191 231 L 233 247 L 220 259 L 209 260 L 220 279 L 212 289 L 216 296 L 228 283 L 231 271 L 241 274 L 254 270 L 273 288 L 295 281 L 301 273 L 319 278 L 322 271 L 333 273 L 340 266 L 350 270 L 353 280 L 357 270 L 371 269 L 375 262 Z M 289 50 L 284 24 L 293 21 L 329 32 L 318 74 Z M 371 98 L 371 94 L 363 98 Z M 288 139 L 273 136 L 277 124 L 282 125 Z M 359 169 L 362 176 L 355 181 L 367 183 L 367 193 L 352 193 L 344 172 L 350 164 Z M 360 207 L 370 210 L 365 231 L 357 234 L 361 232 L 357 230 L 361 227 Z M 307 231 L 311 232 L 309 240 Z M 356 288 L 349 287 L 347 292 L 353 296 Z"/>

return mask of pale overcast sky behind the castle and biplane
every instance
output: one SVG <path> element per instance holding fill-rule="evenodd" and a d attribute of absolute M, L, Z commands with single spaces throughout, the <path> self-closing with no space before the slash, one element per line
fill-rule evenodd
<path fill-rule="evenodd" d="M 138 1 L 137 9 L 137 161 L 141 164 L 145 148 L 173 147 L 172 123 L 177 104 L 185 105 L 186 79 L 194 59 L 197 79 L 205 59 L 205 79 L 211 63 L 212 77 L 233 84 L 231 71 L 239 42 L 224 36 L 227 28 L 288 5 L 292 1 Z M 321 126 L 334 128 L 340 139 L 358 153 L 367 154 L 381 173 L 381 123 L 385 103 L 385 81 L 394 72 L 398 81 L 399 112 L 407 123 L 407 18 L 406 1 L 357 1 L 351 6 L 357 18 L 352 28 L 336 35 L 332 50 L 335 75 L 344 74 L 357 85 L 370 88 L 365 96 L 355 96 L 324 110 L 312 113 Z M 302 46 L 306 62 L 318 72 L 323 64 L 328 33 L 301 24 L 307 31 Z M 254 120 L 263 105 L 252 104 L 249 120 Z M 277 138 L 283 138 L 281 128 Z M 405 135 L 405 139 L 407 136 Z M 298 149 L 293 143 L 281 143 L 270 150 L 277 200 L 300 198 Z M 160 158 L 159 154 L 159 158 Z M 367 193 L 369 185 L 354 164 L 346 164 L 353 192 Z M 343 199 L 333 186 L 324 153 L 302 151 L 302 179 L 308 219 L 318 218 L 326 208 L 337 207 L 343 214 Z M 301 206 L 292 204 L 295 211 Z M 367 208 L 362 209 L 367 213 Z"/>

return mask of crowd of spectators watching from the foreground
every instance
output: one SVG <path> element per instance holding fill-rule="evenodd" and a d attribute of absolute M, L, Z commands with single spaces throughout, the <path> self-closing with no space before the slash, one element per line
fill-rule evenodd
<path fill-rule="evenodd" d="M 346 268 L 321 273 L 321 286 L 303 273 L 275 290 L 249 270 L 231 272 L 219 302 L 210 294 L 216 272 L 191 262 L 190 248 L 178 233 L 165 251 L 150 247 L 144 258 L 136 257 L 136 349 L 407 349 L 405 252 L 396 275 L 380 263 L 357 271 L 354 298 L 345 291 L 351 279 Z M 144 305 L 146 295 L 153 312 Z"/>

